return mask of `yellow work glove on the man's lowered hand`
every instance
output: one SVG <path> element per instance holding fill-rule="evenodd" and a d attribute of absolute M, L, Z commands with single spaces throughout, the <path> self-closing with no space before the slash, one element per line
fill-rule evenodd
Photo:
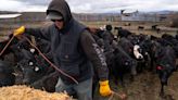
<path fill-rule="evenodd" d="M 99 82 L 100 83 L 100 95 L 103 97 L 110 96 L 112 93 L 109 85 L 109 80 Z"/>

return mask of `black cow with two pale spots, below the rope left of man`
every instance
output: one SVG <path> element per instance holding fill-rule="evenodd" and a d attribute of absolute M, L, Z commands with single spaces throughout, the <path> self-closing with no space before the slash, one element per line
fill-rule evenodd
<path fill-rule="evenodd" d="M 18 62 L 18 65 L 23 71 L 24 84 L 30 85 L 52 71 L 40 55 L 33 54 L 26 49 L 21 49 L 21 54 L 23 59 Z"/>

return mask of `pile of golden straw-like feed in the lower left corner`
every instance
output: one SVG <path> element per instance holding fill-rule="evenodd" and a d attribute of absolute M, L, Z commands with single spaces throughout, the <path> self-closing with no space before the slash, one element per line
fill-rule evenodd
<path fill-rule="evenodd" d="M 47 92 L 27 86 L 0 88 L 0 100 L 72 100 L 66 93 Z"/>

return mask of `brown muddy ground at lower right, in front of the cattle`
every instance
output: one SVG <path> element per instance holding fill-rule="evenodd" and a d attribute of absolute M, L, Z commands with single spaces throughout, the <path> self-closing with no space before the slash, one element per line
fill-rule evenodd
<path fill-rule="evenodd" d="M 165 87 L 165 96 L 160 97 L 160 79 L 156 73 L 143 72 L 138 74 L 134 82 L 125 79 L 126 86 L 116 86 L 111 82 L 111 88 L 117 93 L 126 93 L 126 100 L 178 100 L 178 72 L 174 72 Z M 96 93 L 98 91 L 96 90 Z M 117 95 L 113 98 L 101 98 L 96 95 L 94 100 L 122 100 Z"/>

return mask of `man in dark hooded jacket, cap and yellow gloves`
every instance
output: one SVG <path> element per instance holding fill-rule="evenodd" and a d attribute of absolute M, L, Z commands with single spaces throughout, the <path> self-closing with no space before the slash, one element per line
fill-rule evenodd
<path fill-rule="evenodd" d="M 87 27 L 77 22 L 65 0 L 52 0 L 47 10 L 47 18 L 53 22 L 44 28 L 22 26 L 14 30 L 14 36 L 23 33 L 43 38 L 51 42 L 54 64 L 73 79 L 60 73 L 55 91 L 77 93 L 78 100 L 92 100 L 92 77 L 98 73 L 100 95 L 112 93 L 109 85 L 109 70 L 101 49 L 96 43 Z"/>

